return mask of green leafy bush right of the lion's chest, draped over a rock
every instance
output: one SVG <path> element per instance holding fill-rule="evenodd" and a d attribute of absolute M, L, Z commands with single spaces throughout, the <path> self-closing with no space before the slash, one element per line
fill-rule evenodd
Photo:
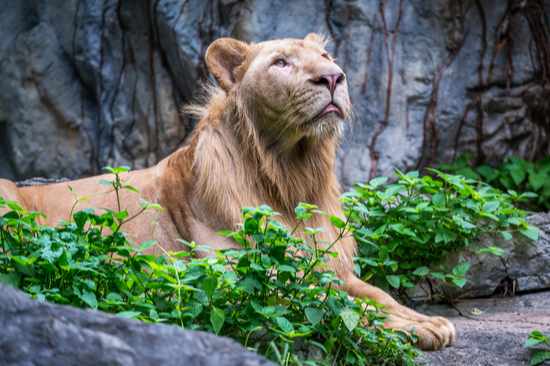
<path fill-rule="evenodd" d="M 384 186 L 388 178 L 356 183 L 356 192 L 343 195 L 345 212 L 355 226 L 359 242 L 356 271 L 363 280 L 375 279 L 383 289 L 414 287 L 427 276 L 462 287 L 469 264 L 447 269 L 438 264 L 450 252 L 470 250 L 501 255 L 502 249 L 477 248 L 474 238 L 500 233 L 504 239 L 519 232 L 537 240 L 538 229 L 514 207 L 514 197 L 462 175 L 433 179 L 418 172 L 403 174 L 399 182 Z"/>

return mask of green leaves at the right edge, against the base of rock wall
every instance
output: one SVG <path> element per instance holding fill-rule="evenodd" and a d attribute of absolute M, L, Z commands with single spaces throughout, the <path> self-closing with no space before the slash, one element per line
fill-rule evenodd
<path fill-rule="evenodd" d="M 542 157 L 536 163 L 512 156 L 498 168 L 488 165 L 471 167 L 470 157 L 470 153 L 461 155 L 454 164 L 440 165 L 439 169 L 506 190 L 515 203 L 527 204 L 534 210 L 550 209 L 550 156 Z"/>

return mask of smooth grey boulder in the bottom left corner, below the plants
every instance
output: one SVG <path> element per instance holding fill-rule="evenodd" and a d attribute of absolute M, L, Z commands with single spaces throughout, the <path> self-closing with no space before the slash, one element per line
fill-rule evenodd
<path fill-rule="evenodd" d="M 234 341 L 29 299 L 0 283 L 0 365 L 273 365 Z"/>

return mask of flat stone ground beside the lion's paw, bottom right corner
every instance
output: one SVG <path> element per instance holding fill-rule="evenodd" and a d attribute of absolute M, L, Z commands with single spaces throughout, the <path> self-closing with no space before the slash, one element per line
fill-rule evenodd
<path fill-rule="evenodd" d="M 524 349 L 534 330 L 550 334 L 550 292 L 478 299 L 447 305 L 422 304 L 417 310 L 426 315 L 448 318 L 456 327 L 458 338 L 441 351 L 424 352 L 431 366 L 524 366 L 543 346 Z M 472 309 L 485 311 L 472 315 Z M 550 360 L 541 365 L 550 365 Z"/>

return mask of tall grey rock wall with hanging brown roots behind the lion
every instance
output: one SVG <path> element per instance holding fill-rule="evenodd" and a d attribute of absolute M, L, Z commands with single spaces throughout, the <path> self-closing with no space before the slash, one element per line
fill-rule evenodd
<path fill-rule="evenodd" d="M 550 0 L 0 0 L 0 177 L 143 168 L 185 144 L 179 113 L 221 36 L 323 30 L 356 123 L 344 185 L 452 161 L 549 153 Z M 546 14 L 545 14 L 546 13 Z"/>

